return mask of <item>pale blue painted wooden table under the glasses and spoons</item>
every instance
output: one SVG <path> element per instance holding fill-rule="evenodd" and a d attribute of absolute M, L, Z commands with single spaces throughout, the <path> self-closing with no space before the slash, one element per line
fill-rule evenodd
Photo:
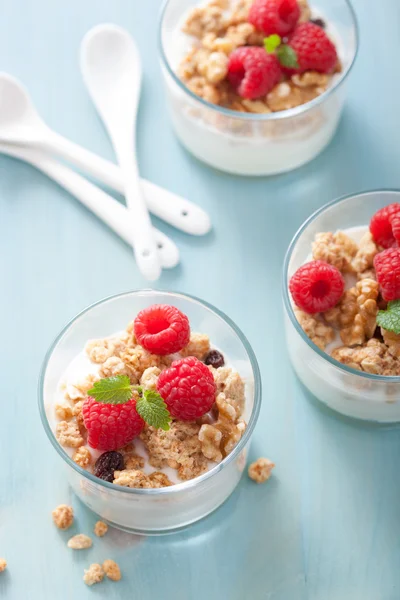
<path fill-rule="evenodd" d="M 193 239 L 157 223 L 182 252 L 159 286 L 203 297 L 249 337 L 264 384 L 251 456 L 276 462 L 265 486 L 244 478 L 205 521 L 167 537 L 117 531 L 72 553 L 51 510 L 72 502 L 75 532 L 95 518 L 71 496 L 39 421 L 44 353 L 67 320 L 101 297 L 144 285 L 130 249 L 32 168 L 0 157 L 0 575 L 4 600 L 398 600 L 400 434 L 341 420 L 301 389 L 288 364 L 282 261 L 303 220 L 337 196 L 400 187 L 400 5 L 355 0 L 361 49 L 337 136 L 291 174 L 243 179 L 197 162 L 168 121 L 157 57 L 159 0 L 0 2 L 0 69 L 21 78 L 48 123 L 113 159 L 78 69 L 82 36 L 113 21 L 144 65 L 144 176 L 198 202 L 214 231 Z M 199 276 L 199 273 L 209 276 Z M 114 558 L 120 583 L 87 588 L 83 569 Z"/>

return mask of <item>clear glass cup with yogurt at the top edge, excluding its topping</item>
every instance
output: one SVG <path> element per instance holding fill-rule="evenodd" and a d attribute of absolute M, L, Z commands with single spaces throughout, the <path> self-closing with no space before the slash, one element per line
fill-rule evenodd
<path fill-rule="evenodd" d="M 311 102 L 269 114 L 237 112 L 211 104 L 179 79 L 176 70 L 191 41 L 187 36 L 189 46 L 180 44 L 177 32 L 182 17 L 199 4 L 199 0 L 167 0 L 161 14 L 162 70 L 172 123 L 181 143 L 203 162 L 238 175 L 274 175 L 315 158 L 336 132 L 345 100 L 344 84 L 357 54 L 358 28 L 350 2 L 311 2 L 315 13 L 334 27 L 342 72 Z"/>

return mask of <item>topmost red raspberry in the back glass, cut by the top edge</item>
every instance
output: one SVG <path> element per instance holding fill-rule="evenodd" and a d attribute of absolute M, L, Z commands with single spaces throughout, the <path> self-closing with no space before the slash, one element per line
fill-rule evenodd
<path fill-rule="evenodd" d="M 254 0 L 249 22 L 266 36 L 290 33 L 300 17 L 297 0 Z"/>

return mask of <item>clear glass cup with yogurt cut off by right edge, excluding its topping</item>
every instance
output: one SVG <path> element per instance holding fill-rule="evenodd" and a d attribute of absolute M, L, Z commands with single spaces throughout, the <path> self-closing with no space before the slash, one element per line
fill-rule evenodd
<path fill-rule="evenodd" d="M 288 284 L 295 271 L 310 260 L 315 234 L 368 225 L 377 210 L 393 202 L 400 202 L 400 192 L 372 191 L 340 198 L 316 211 L 290 244 L 283 277 L 286 339 L 299 379 L 333 410 L 379 423 L 400 421 L 400 377 L 357 371 L 320 350 L 296 319 Z"/>

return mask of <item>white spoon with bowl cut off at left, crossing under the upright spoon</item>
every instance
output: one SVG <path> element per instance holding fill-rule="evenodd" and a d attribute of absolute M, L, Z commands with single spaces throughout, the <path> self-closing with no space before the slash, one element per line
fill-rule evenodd
<path fill-rule="evenodd" d="M 117 192 L 124 191 L 118 166 L 51 130 L 25 87 L 7 73 L 0 73 L 0 142 L 40 147 Z M 149 210 L 155 216 L 192 235 L 204 235 L 211 229 L 207 213 L 196 204 L 145 179 L 142 185 Z"/>

